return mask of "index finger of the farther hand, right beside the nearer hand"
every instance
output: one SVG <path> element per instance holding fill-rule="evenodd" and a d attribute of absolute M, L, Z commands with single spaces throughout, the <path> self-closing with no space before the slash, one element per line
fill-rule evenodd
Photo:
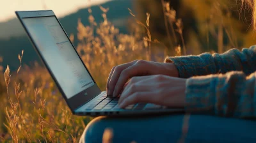
<path fill-rule="evenodd" d="M 143 70 L 143 67 L 141 67 L 141 65 L 138 64 L 133 64 L 132 66 L 129 66 L 128 68 L 123 70 L 120 74 L 120 77 L 117 79 L 113 96 L 118 96 L 121 89 L 124 87 L 125 82 L 127 82 L 127 80 L 131 77 L 138 75 L 138 73 L 140 73 L 141 70 Z"/>

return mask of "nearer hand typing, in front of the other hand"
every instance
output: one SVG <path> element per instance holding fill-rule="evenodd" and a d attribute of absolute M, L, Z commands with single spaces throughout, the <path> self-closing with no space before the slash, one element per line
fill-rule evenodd
<path fill-rule="evenodd" d="M 186 79 L 166 75 L 132 77 L 120 95 L 121 108 L 135 103 L 154 103 L 167 107 L 184 107 Z"/>

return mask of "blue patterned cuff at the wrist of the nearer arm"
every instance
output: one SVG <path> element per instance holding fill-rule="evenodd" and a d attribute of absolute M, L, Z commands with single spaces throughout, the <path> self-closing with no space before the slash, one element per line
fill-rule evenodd
<path fill-rule="evenodd" d="M 214 114 L 214 91 L 218 82 L 214 75 L 191 77 L 186 82 L 186 112 Z"/>

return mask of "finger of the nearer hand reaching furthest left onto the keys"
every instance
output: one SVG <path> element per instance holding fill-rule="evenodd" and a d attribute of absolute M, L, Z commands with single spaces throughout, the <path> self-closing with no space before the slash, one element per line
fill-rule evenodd
<path fill-rule="evenodd" d="M 130 84 L 131 86 L 125 88 L 123 93 L 120 95 L 118 104 L 122 103 L 122 101 L 128 96 L 130 96 L 132 93 L 150 91 L 149 85 L 140 83 L 141 82 L 138 82 L 136 84 Z"/>

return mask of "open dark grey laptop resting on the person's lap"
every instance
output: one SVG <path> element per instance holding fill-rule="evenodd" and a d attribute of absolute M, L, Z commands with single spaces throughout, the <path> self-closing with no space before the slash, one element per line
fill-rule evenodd
<path fill-rule="evenodd" d="M 139 116 L 184 111 L 152 103 L 136 103 L 120 109 L 118 97 L 100 91 L 52 10 L 15 13 L 73 114 Z"/>

